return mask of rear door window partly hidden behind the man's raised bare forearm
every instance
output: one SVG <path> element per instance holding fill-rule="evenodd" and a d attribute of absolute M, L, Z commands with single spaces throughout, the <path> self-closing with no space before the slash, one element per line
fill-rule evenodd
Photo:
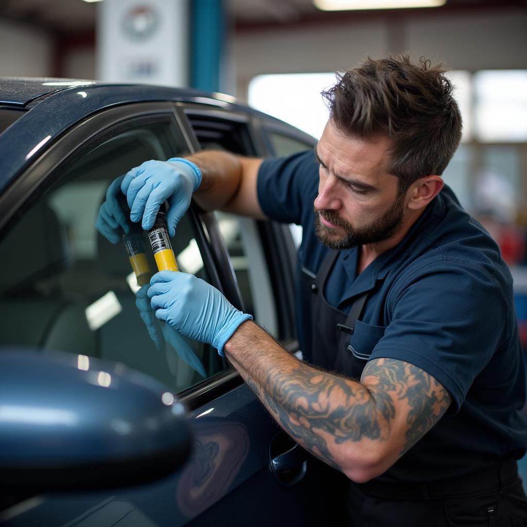
<path fill-rule="evenodd" d="M 204 112 L 189 112 L 188 118 L 200 148 L 255 155 L 247 122 L 231 120 L 227 116 L 210 116 Z M 243 309 L 278 337 L 275 297 L 256 221 L 219 211 L 214 214 L 229 251 Z"/>

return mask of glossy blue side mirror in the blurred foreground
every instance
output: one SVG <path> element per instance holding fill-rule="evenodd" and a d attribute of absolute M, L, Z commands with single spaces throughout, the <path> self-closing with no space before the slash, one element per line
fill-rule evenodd
<path fill-rule="evenodd" d="M 183 406 L 151 377 L 84 355 L 0 348 L 0 489 L 146 483 L 190 450 Z"/>

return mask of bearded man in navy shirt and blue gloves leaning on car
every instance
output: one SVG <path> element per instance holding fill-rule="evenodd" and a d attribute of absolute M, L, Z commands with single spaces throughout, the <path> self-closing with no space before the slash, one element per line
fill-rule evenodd
<path fill-rule="evenodd" d="M 512 279 L 443 185 L 462 128 L 451 84 L 424 59 L 368 58 L 324 95 L 315 152 L 206 151 L 148 161 L 121 183 L 143 228 L 168 199 L 171 235 L 191 195 L 302 225 L 305 360 L 190 275 L 152 278 L 155 315 L 225 353 L 284 430 L 347 476 L 350 524 L 525 524 Z"/>

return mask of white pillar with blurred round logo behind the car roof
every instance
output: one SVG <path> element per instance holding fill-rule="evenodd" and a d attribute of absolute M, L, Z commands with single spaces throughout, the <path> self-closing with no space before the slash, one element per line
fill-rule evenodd
<path fill-rule="evenodd" d="M 96 75 L 108 82 L 189 85 L 187 0 L 97 5 Z"/>

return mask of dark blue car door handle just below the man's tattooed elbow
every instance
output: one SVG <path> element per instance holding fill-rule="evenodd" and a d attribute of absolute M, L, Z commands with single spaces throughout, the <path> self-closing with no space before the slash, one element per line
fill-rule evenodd
<path fill-rule="evenodd" d="M 279 447 L 281 447 L 280 450 L 284 450 L 284 448 L 287 450 L 278 454 Z M 271 443 L 271 452 L 278 455 L 271 456 L 270 469 L 282 485 L 293 485 L 305 476 L 307 452 L 283 432 L 275 436 Z"/>

